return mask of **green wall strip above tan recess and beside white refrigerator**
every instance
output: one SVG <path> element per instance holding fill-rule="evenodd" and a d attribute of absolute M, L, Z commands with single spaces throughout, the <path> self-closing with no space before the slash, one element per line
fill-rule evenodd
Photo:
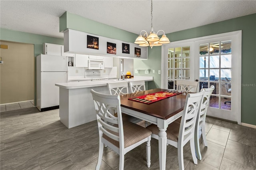
<path fill-rule="evenodd" d="M 64 44 L 61 38 L 41 36 L 0 28 L 0 40 L 34 44 L 34 105 L 36 105 L 36 56 L 43 53 L 43 43 Z"/>

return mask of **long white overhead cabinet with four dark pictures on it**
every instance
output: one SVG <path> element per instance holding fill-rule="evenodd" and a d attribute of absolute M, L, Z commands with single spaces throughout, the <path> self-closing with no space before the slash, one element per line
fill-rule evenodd
<path fill-rule="evenodd" d="M 148 47 L 70 29 L 64 32 L 64 51 L 108 57 L 148 58 Z"/>

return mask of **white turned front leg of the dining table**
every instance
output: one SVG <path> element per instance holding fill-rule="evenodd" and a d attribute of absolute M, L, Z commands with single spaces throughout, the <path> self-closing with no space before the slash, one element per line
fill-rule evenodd
<path fill-rule="evenodd" d="M 167 128 L 159 128 L 158 133 L 158 150 L 159 150 L 159 168 L 160 170 L 165 170 L 166 166 L 166 147 L 167 147 Z"/>

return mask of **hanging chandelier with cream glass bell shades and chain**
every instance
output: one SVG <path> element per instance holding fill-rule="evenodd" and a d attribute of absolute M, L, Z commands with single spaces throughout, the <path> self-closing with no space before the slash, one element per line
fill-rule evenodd
<path fill-rule="evenodd" d="M 136 44 L 139 44 L 139 46 L 147 47 L 150 46 L 151 48 L 154 46 L 161 46 L 166 43 L 170 43 L 169 39 L 166 37 L 165 33 L 162 35 L 161 38 L 158 37 L 158 32 L 163 30 L 159 30 L 157 33 L 154 32 L 153 24 L 152 24 L 152 15 L 153 7 L 152 7 L 152 0 L 151 0 L 151 32 L 148 35 L 148 33 L 145 30 L 140 31 L 140 35 L 138 38 L 136 38 L 135 42 Z M 142 36 L 142 32 L 145 32 L 145 34 Z"/>

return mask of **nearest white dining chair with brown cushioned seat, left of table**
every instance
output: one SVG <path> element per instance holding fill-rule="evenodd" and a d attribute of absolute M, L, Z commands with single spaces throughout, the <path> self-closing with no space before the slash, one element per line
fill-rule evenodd
<path fill-rule="evenodd" d="M 102 94 L 90 90 L 99 130 L 99 155 L 96 170 L 100 169 L 104 144 L 120 155 L 119 170 L 124 169 L 124 155 L 140 144 L 146 142 L 146 164 L 150 167 L 150 140 L 152 132 L 140 125 L 122 121 L 120 96 Z M 117 117 L 110 109 L 117 111 Z"/>

